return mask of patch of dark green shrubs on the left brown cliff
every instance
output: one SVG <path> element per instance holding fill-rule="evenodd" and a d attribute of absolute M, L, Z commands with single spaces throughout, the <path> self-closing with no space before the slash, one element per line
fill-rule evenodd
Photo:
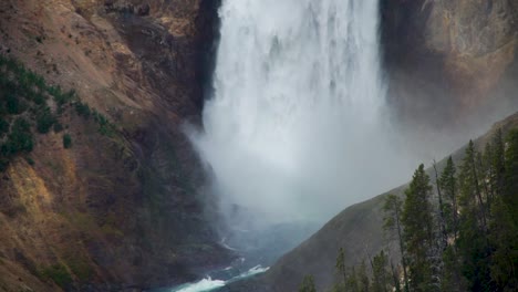
<path fill-rule="evenodd" d="M 86 119 L 93 116 L 100 134 L 113 136 L 116 132 L 105 116 L 81 102 L 74 90 L 65 92 L 59 85 L 48 85 L 42 76 L 0 54 L 0 171 L 18 155 L 32 152 L 34 132 L 48 134 L 53 128 L 60 133 L 68 128 L 60 119 L 70 106 Z M 63 147 L 71 146 L 72 138 L 65 134 Z"/>

